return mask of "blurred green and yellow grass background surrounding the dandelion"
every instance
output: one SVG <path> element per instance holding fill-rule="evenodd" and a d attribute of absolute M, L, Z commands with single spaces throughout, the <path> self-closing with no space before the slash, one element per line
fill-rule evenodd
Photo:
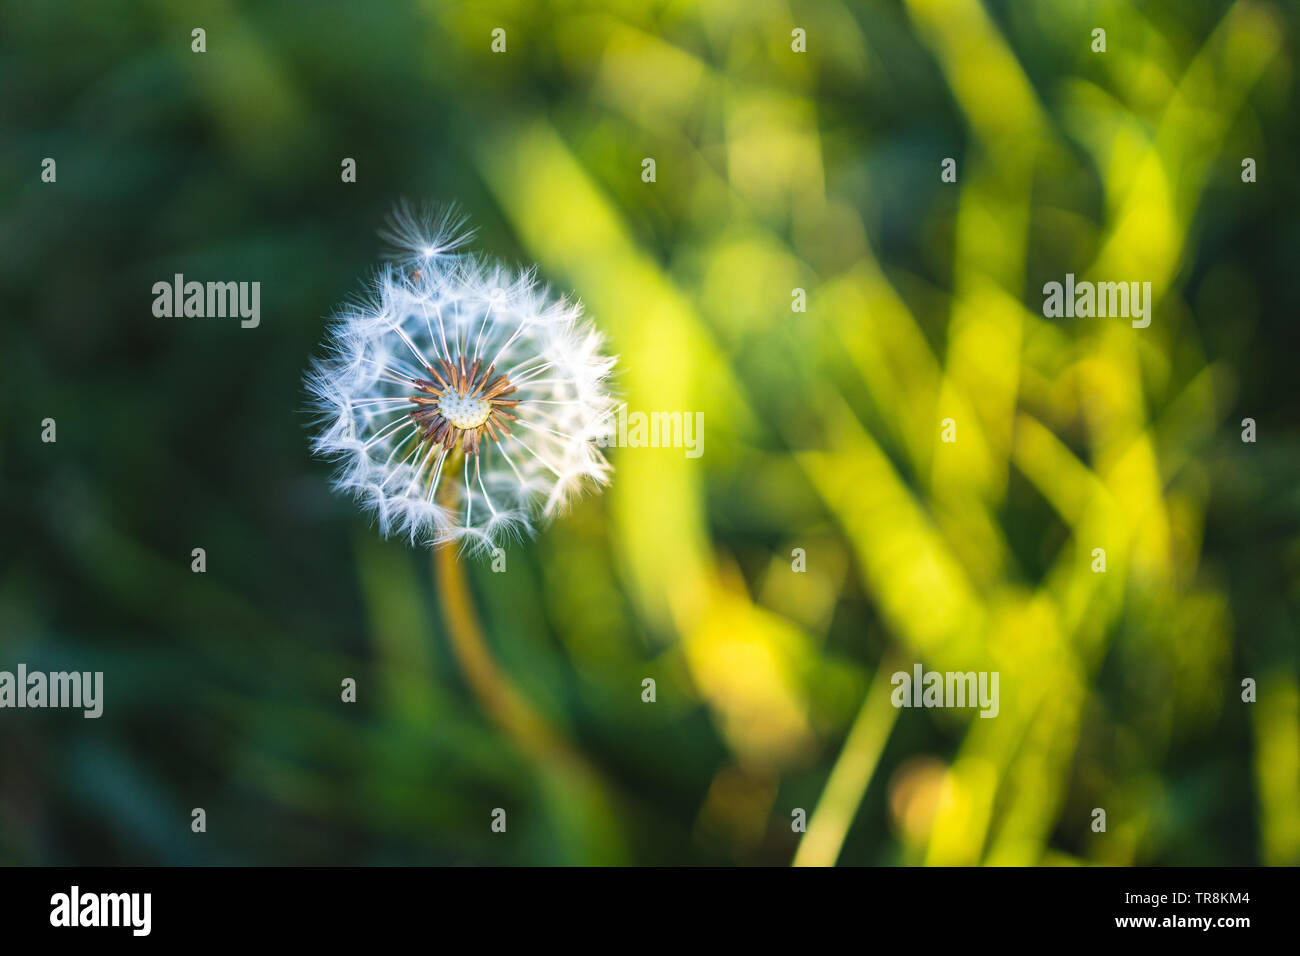
<path fill-rule="evenodd" d="M 0 861 L 1300 862 L 1295 14 L 4 0 L 0 669 L 107 689 L 0 713 Z M 402 196 L 705 416 L 465 568 L 546 736 L 308 454 Z M 260 328 L 156 319 L 177 272 L 260 281 Z M 1043 319 L 1066 272 L 1150 326 Z M 894 710 L 918 661 L 998 718 Z"/>

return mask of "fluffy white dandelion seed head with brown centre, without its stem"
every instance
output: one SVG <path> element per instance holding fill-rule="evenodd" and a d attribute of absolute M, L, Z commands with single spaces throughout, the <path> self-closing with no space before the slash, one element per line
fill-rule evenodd
<path fill-rule="evenodd" d="M 308 373 L 313 449 L 384 535 L 491 551 L 610 479 L 614 359 L 580 303 L 463 252 L 463 220 L 399 207 L 370 294 Z"/>

